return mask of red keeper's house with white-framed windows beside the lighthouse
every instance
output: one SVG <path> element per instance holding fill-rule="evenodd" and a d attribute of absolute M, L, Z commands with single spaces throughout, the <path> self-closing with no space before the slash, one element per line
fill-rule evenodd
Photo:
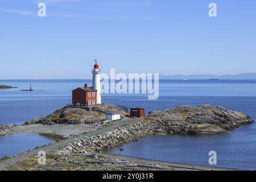
<path fill-rule="evenodd" d="M 88 87 L 79 87 L 72 91 L 72 104 L 73 105 L 96 105 L 97 104 L 97 90 Z"/>

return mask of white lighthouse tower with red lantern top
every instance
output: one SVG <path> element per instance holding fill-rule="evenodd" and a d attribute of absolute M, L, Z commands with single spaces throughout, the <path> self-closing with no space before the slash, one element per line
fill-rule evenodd
<path fill-rule="evenodd" d="M 97 104 L 101 104 L 101 70 L 98 68 L 97 60 L 94 60 L 94 69 L 93 73 L 93 88 L 97 90 Z"/>

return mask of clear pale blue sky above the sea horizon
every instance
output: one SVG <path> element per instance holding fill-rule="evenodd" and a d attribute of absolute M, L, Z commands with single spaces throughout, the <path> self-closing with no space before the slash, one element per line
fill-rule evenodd
<path fill-rule="evenodd" d="M 47 16 L 38 17 L 44 2 Z M 210 2 L 217 17 L 208 16 Z M 1 0 L 0 79 L 256 72 L 254 0 Z"/>

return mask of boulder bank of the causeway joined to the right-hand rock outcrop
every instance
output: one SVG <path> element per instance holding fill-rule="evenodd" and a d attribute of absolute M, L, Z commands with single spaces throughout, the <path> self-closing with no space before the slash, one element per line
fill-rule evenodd
<path fill-rule="evenodd" d="M 224 134 L 230 129 L 253 122 L 249 116 L 223 107 L 180 106 L 164 111 L 152 111 L 148 117 L 131 126 L 78 140 L 55 152 L 57 154 L 101 152 L 148 135 Z"/>

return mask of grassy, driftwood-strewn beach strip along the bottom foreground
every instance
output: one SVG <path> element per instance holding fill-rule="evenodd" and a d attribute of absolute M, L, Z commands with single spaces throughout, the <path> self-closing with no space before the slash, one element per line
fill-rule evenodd
<path fill-rule="evenodd" d="M 61 170 L 97 170 L 106 171 L 111 166 L 112 170 L 126 171 L 246 171 L 246 169 L 203 166 L 196 164 L 185 164 L 176 162 L 166 162 L 162 160 L 134 158 L 131 156 L 110 154 L 108 151 L 103 153 L 88 154 L 88 155 L 69 155 L 58 156 L 52 155 L 54 159 L 47 159 L 47 164 L 42 166 L 35 163 L 35 156 L 22 160 L 22 163 L 15 163 L 5 168 L 0 168 L 0 171 L 9 170 L 30 170 L 30 171 L 61 171 Z M 9 158 L 10 160 L 12 158 Z M 7 159 L 7 160 L 9 160 Z M 32 163 L 32 165 L 31 165 Z M 28 165 L 30 164 L 30 166 Z M 85 168 L 83 168 L 85 167 Z"/>

